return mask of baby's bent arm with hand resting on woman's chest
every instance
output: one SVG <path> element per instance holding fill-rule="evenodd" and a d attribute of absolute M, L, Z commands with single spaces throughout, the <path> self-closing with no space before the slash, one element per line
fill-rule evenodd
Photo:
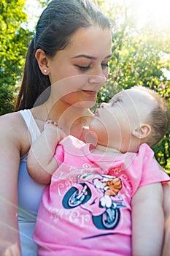
<path fill-rule="evenodd" d="M 50 183 L 51 176 L 58 168 L 54 157 L 55 148 L 58 142 L 65 137 L 62 129 L 57 127 L 53 121 L 47 121 L 44 131 L 28 151 L 27 169 L 35 181 L 42 184 Z"/>

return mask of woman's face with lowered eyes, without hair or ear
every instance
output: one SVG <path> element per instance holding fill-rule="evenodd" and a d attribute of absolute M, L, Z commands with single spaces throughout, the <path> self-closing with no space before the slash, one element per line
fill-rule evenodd
<path fill-rule="evenodd" d="M 59 50 L 53 59 L 47 58 L 54 95 L 66 105 L 92 107 L 109 75 L 111 56 L 111 29 L 78 29 L 65 49 Z"/>

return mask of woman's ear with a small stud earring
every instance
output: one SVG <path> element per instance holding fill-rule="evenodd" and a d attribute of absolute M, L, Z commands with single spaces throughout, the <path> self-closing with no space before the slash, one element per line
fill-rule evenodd
<path fill-rule="evenodd" d="M 36 61 L 38 62 L 39 69 L 41 70 L 43 75 L 49 75 L 50 74 L 50 69 L 48 67 L 48 61 L 47 61 L 47 56 L 45 55 L 44 50 L 38 49 L 36 50 Z"/>

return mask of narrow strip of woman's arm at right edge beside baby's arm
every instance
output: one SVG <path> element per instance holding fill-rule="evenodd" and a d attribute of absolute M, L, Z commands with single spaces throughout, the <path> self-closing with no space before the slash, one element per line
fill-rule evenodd
<path fill-rule="evenodd" d="M 163 209 L 165 213 L 165 236 L 162 256 L 170 255 L 170 182 L 163 184 Z"/>

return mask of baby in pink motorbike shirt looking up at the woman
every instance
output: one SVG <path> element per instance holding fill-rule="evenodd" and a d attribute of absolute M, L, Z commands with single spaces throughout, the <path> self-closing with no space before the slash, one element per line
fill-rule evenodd
<path fill-rule="evenodd" d="M 38 255 L 160 256 L 169 176 L 150 147 L 168 128 L 166 103 L 140 86 L 101 103 L 89 124 L 96 145 L 48 121 L 27 162 L 30 176 L 49 184 L 34 232 Z"/>

